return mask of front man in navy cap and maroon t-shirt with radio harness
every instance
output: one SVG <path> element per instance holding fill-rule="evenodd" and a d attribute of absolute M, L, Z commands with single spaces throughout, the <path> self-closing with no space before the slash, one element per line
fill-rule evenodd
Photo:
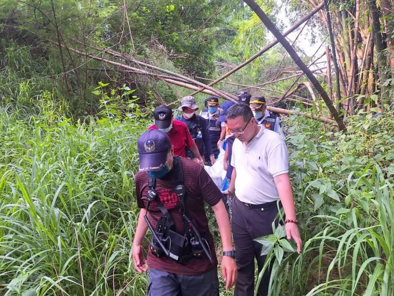
<path fill-rule="evenodd" d="M 229 290 L 236 280 L 235 251 L 221 192 L 200 165 L 174 156 L 174 147 L 164 132 L 144 132 L 137 146 L 139 171 L 134 183 L 140 213 L 132 261 L 138 272 L 150 270 L 148 295 L 219 295 L 218 261 L 205 202 L 212 207 L 218 223 L 223 246 L 222 275 Z M 146 261 L 143 245 L 148 228 L 152 239 Z M 204 252 L 195 250 L 197 241 L 205 246 Z"/>

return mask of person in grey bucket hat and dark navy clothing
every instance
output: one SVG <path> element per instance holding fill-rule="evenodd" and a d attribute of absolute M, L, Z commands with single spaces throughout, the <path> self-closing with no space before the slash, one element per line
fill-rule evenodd
<path fill-rule="evenodd" d="M 205 150 L 209 155 L 209 159 L 211 164 L 215 163 L 215 156 L 212 152 L 211 140 L 209 137 L 209 132 L 206 126 L 205 119 L 200 115 L 196 114 L 198 110 L 198 106 L 196 104 L 196 99 L 192 96 L 187 96 L 181 99 L 181 106 L 178 108 L 179 111 L 182 111 L 183 114 L 176 118 L 186 124 L 189 129 L 189 132 L 195 141 L 198 151 L 200 155 L 204 155 L 204 146 Z M 186 149 L 186 157 L 195 160 L 196 156 L 193 154 L 190 149 Z"/>

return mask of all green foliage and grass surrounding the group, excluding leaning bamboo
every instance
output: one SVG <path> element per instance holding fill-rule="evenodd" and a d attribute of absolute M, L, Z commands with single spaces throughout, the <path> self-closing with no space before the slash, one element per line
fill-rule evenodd
<path fill-rule="evenodd" d="M 257 2 L 283 29 L 281 6 Z M 292 20 L 316 5 L 287 2 L 293 4 Z M 381 2 L 387 72 L 377 61 L 382 52 L 369 50 L 373 42 L 366 42 L 376 36 L 377 22 L 367 9 L 374 2 Z M 301 255 L 292 252 L 281 227 L 259 239 L 275 262 L 271 295 L 394 295 L 394 114 L 364 112 L 392 107 L 394 18 L 384 10 L 391 2 L 330 1 L 343 75 L 337 106 L 347 108 L 342 112 L 350 115 L 348 131 L 297 116 L 285 119 L 304 245 Z M 357 7 L 359 39 L 353 32 Z M 324 14 L 305 30 L 325 33 Z M 206 82 L 261 50 L 269 34 L 237 0 L 1 0 L 0 20 L 0 295 L 145 295 L 148 277 L 131 263 L 136 139 L 150 124 L 146 111 L 190 90 L 118 71 L 65 46 L 84 53 L 95 48 L 97 56 L 116 50 Z M 360 48 L 352 54 L 353 40 Z M 238 83 L 259 84 L 252 90 L 270 103 L 296 88 L 282 106 L 326 115 L 280 50 L 265 52 L 219 87 L 234 93 L 245 87 Z M 352 57 L 359 71 L 353 80 Z M 335 87 L 317 73 L 335 101 Z M 356 81 L 356 90 L 349 87 Z M 382 86 L 388 99 L 382 100 Z M 204 98 L 197 95 L 201 107 Z M 209 218 L 219 243 L 211 212 Z M 221 295 L 230 295 L 223 287 L 221 281 Z"/>

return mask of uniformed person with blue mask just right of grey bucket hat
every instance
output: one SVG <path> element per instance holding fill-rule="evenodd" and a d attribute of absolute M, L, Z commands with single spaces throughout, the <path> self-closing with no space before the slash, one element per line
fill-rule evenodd
<path fill-rule="evenodd" d="M 201 111 L 200 115 L 205 118 L 206 124 L 209 131 L 209 137 L 211 140 L 212 152 L 215 159 L 219 155 L 218 142 L 220 140 L 220 134 L 222 132 L 222 127 L 219 122 L 219 99 L 218 97 L 212 96 L 207 99 L 208 109 Z M 205 159 L 209 159 L 209 155 L 205 152 Z"/>

